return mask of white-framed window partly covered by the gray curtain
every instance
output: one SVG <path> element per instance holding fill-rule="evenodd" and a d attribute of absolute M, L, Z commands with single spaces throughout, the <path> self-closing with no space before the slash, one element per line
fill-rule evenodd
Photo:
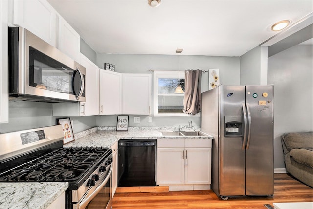
<path fill-rule="evenodd" d="M 194 117 L 182 112 L 183 93 L 174 93 L 178 84 L 185 91 L 185 74 L 180 71 L 154 71 L 154 116 L 155 117 Z M 196 115 L 198 116 L 198 115 Z M 199 115 L 200 116 L 200 115 Z"/>

